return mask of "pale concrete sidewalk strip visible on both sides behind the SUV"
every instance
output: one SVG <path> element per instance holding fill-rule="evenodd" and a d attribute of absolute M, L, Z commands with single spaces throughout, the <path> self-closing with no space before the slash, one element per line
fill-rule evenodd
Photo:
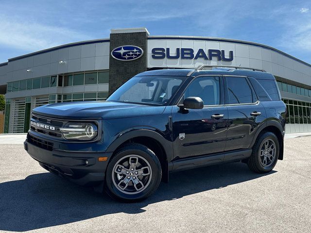
<path fill-rule="evenodd" d="M 0 144 L 23 144 L 26 139 L 27 133 L 15 133 L 15 134 L 0 134 Z M 285 139 L 311 136 L 310 133 L 286 133 Z"/>

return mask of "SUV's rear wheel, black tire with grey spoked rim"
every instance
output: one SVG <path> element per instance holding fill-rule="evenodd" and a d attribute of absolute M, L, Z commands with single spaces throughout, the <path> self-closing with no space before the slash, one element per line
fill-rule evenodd
<path fill-rule="evenodd" d="M 252 171 L 257 173 L 270 172 L 276 166 L 278 154 L 279 142 L 276 134 L 272 132 L 262 133 L 253 146 L 253 152 L 247 165 Z"/>

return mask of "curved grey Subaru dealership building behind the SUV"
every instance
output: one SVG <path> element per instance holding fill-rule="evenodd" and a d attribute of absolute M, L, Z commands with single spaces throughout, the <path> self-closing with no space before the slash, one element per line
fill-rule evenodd
<path fill-rule="evenodd" d="M 275 48 L 200 36 L 152 36 L 146 28 L 111 30 L 0 64 L 4 133 L 25 133 L 31 110 L 48 103 L 105 100 L 134 75 L 199 65 L 247 67 L 272 73 L 288 108 L 287 133 L 311 132 L 311 65 Z M 0 132 L 1 133 L 1 132 Z"/>

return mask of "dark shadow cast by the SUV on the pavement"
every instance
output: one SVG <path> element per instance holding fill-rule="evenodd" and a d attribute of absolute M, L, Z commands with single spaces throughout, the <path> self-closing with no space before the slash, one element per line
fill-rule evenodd
<path fill-rule="evenodd" d="M 69 183 L 52 173 L 0 183 L 0 231 L 24 232 L 114 213 L 137 214 L 164 200 L 218 189 L 272 174 L 251 172 L 245 164 L 208 166 L 170 174 L 153 196 L 138 203 L 120 203 L 92 188 Z"/>

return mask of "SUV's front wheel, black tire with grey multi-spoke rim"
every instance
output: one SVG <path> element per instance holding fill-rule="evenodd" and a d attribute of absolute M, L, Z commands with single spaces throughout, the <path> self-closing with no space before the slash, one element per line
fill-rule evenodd
<path fill-rule="evenodd" d="M 152 150 L 141 144 L 127 144 L 107 166 L 105 191 L 116 200 L 141 201 L 155 192 L 161 176 L 161 164 Z"/>

